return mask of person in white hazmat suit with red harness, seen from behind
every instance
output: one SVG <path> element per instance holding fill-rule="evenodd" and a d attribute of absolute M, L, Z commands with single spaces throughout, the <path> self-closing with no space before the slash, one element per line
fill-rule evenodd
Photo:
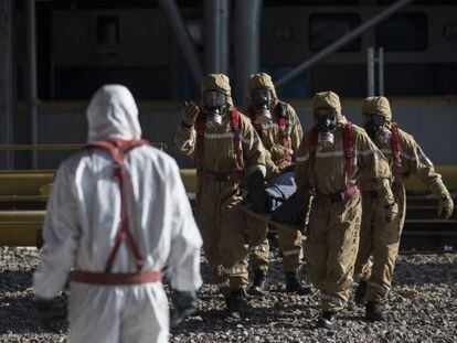
<path fill-rule="evenodd" d="M 140 140 L 138 109 L 126 87 L 98 89 L 87 119 L 88 148 L 61 164 L 47 204 L 33 276 L 35 309 L 43 321 L 53 317 L 52 299 L 74 269 L 71 342 L 167 342 L 162 268 L 174 290 L 174 313 L 195 309 L 202 285 L 202 239 L 178 165 Z"/>

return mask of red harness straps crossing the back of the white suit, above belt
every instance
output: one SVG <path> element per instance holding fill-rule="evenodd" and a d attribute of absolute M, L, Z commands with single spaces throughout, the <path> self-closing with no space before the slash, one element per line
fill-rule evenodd
<path fill-rule="evenodd" d="M 145 258 L 139 251 L 138 244 L 135 240 L 131 232 L 128 228 L 128 213 L 127 213 L 127 190 L 130 182 L 128 172 L 124 165 L 124 158 L 127 153 L 140 146 L 149 144 L 146 140 L 113 140 L 113 141 L 97 141 L 87 146 L 87 148 L 100 148 L 109 152 L 113 160 L 115 161 L 115 171 L 113 179 L 119 182 L 120 189 L 120 229 L 117 233 L 115 245 L 108 257 L 108 261 L 105 267 L 105 272 L 109 274 L 116 256 L 119 251 L 120 245 L 124 240 L 127 242 L 128 247 L 130 248 L 131 254 L 135 257 L 135 264 L 138 271 L 141 270 L 145 265 Z"/>

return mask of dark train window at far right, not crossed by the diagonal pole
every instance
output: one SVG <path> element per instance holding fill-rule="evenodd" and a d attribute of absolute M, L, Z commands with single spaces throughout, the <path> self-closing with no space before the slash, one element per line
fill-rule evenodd
<path fill-rule="evenodd" d="M 427 14 L 397 13 L 376 29 L 376 44 L 385 51 L 424 51 L 428 45 Z"/>

